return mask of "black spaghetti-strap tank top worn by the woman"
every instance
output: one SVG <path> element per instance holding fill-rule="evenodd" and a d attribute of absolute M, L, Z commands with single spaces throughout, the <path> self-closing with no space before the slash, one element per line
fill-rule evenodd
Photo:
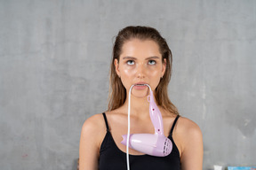
<path fill-rule="evenodd" d="M 126 153 L 121 151 L 109 131 L 108 120 L 105 112 L 103 113 L 106 122 L 107 133 L 100 146 L 100 170 L 125 170 Z M 154 157 L 150 155 L 130 155 L 131 170 L 180 170 L 180 152 L 172 139 L 172 131 L 175 127 L 179 115 L 173 122 L 168 138 L 172 141 L 172 152 L 166 157 Z"/>

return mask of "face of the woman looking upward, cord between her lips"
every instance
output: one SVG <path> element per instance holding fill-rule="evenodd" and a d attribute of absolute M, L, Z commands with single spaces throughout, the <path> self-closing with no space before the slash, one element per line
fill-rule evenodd
<path fill-rule="evenodd" d="M 148 87 L 140 84 L 149 84 L 155 91 L 165 71 L 165 60 L 159 46 L 152 40 L 132 39 L 124 42 L 119 62 L 115 60 L 116 73 L 121 78 L 127 92 L 132 85 L 132 95 L 146 97 Z"/>

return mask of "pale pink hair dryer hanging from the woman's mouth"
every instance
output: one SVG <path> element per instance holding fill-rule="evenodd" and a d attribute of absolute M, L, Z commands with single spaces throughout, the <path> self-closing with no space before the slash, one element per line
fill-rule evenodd
<path fill-rule="evenodd" d="M 155 127 L 155 134 L 131 134 L 129 147 L 151 156 L 165 157 L 172 151 L 172 141 L 164 135 L 162 114 L 156 106 L 152 90 L 150 90 L 148 99 L 149 114 Z M 124 139 L 121 143 L 126 145 L 127 135 L 122 136 Z"/>

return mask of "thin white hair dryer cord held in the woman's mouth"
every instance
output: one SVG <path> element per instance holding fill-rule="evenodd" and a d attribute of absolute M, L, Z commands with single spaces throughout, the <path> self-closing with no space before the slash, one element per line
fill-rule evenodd
<path fill-rule="evenodd" d="M 144 84 L 148 86 L 149 90 L 151 91 L 151 88 L 148 84 Z M 127 170 L 130 170 L 130 161 L 129 161 L 129 142 L 130 142 L 130 114 L 131 114 L 131 92 L 134 85 L 131 86 L 129 90 L 129 98 L 128 98 L 128 130 L 127 130 L 127 141 L 126 141 L 126 164 L 127 164 Z"/>

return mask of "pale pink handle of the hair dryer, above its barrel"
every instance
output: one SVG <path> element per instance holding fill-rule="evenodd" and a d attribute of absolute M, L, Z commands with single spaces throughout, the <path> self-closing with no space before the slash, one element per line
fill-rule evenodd
<path fill-rule="evenodd" d="M 154 95 L 152 91 L 150 91 L 150 94 L 148 97 L 149 97 L 149 115 L 155 127 L 155 134 L 164 135 L 162 114 L 155 103 Z"/>

